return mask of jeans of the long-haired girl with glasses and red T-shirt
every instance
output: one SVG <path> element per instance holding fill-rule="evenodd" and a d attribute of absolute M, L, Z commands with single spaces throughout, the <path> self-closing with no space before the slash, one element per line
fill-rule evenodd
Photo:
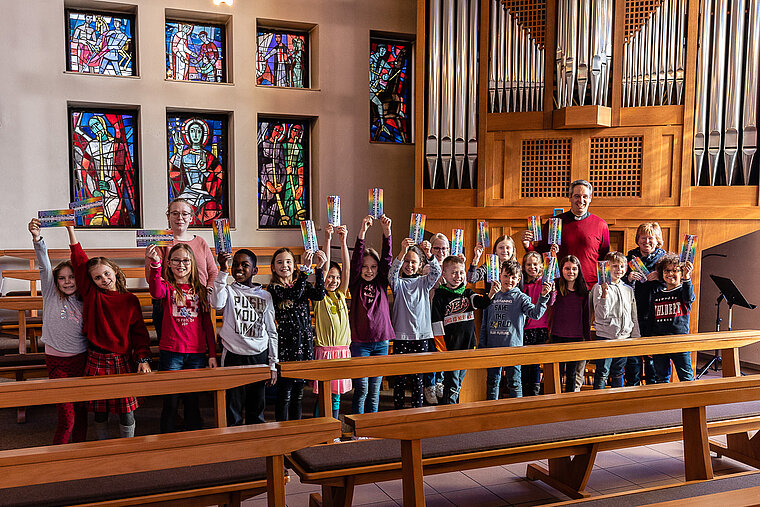
<path fill-rule="evenodd" d="M 161 371 L 195 370 L 205 368 L 207 364 L 208 360 L 204 353 L 159 351 L 159 369 Z M 161 433 L 171 433 L 176 430 L 177 407 L 180 397 L 185 406 L 185 429 L 199 430 L 203 427 L 198 393 L 167 394 L 164 396 L 164 406 L 161 409 Z"/>

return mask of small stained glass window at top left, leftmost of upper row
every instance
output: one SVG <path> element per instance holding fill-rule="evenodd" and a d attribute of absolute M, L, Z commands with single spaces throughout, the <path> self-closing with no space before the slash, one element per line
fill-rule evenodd
<path fill-rule="evenodd" d="M 135 75 L 132 16 L 67 10 L 66 17 L 68 70 L 109 76 Z"/>

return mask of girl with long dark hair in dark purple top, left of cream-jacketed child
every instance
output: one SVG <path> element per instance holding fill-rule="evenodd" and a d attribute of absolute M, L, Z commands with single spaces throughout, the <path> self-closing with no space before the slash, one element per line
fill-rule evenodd
<path fill-rule="evenodd" d="M 554 301 L 551 322 L 552 343 L 569 343 L 588 340 L 591 321 L 589 317 L 588 286 L 583 278 L 581 263 L 574 255 L 560 261 L 560 278 Z M 586 366 L 585 361 L 570 361 L 560 365 L 560 375 L 565 375 L 565 391 L 580 391 L 581 382 L 577 372 Z"/>

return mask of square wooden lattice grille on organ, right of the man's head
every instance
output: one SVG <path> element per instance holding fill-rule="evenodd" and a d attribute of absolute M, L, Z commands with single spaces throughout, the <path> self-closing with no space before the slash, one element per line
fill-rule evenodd
<path fill-rule="evenodd" d="M 643 136 L 592 137 L 589 180 L 594 197 L 641 197 Z"/>

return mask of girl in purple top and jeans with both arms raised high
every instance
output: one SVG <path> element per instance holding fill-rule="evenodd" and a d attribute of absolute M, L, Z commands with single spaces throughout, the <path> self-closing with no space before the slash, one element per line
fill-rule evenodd
<path fill-rule="evenodd" d="M 388 340 L 396 335 L 391 324 L 388 306 L 388 271 L 391 255 L 391 219 L 383 215 L 382 255 L 366 248 L 364 238 L 374 219 L 367 215 L 362 220 L 356 245 L 351 255 L 351 276 L 348 288 L 351 293 L 351 357 L 384 356 L 388 354 Z M 354 379 L 353 412 L 377 412 L 380 401 L 380 382 L 383 377 Z"/>

